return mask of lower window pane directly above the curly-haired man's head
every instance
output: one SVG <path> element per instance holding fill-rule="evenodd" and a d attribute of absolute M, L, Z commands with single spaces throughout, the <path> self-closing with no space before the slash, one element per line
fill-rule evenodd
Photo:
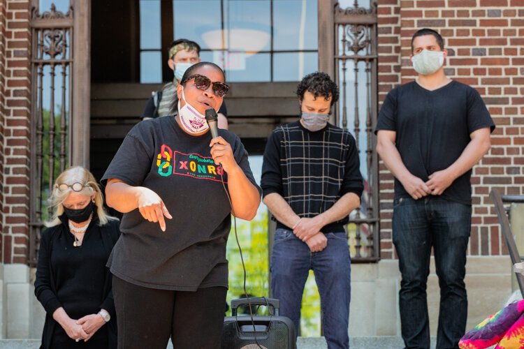
<path fill-rule="evenodd" d="M 318 70 L 318 66 L 316 52 L 275 53 L 273 81 L 300 81 L 304 75 Z"/>

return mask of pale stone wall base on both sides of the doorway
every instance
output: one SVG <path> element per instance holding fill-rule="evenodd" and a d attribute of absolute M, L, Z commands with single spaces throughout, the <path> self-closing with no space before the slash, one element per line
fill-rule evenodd
<path fill-rule="evenodd" d="M 469 257 L 466 287 L 467 330 L 502 308 L 511 295 L 511 262 L 507 256 Z M 0 265 L 0 339 L 40 338 L 45 312 L 34 297 L 34 268 Z M 350 336 L 400 336 L 398 261 L 351 266 Z M 439 286 L 431 261 L 428 279 L 430 332 L 437 332 Z"/>

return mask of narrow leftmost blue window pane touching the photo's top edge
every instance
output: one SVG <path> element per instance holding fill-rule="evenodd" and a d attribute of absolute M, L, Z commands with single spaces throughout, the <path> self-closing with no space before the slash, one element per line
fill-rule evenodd
<path fill-rule="evenodd" d="M 160 0 L 140 0 L 140 49 L 159 49 Z"/>

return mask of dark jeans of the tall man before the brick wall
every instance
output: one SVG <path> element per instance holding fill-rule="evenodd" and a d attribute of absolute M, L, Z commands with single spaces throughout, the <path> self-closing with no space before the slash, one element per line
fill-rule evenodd
<path fill-rule="evenodd" d="M 430 348 L 426 284 L 431 247 L 440 286 L 437 348 L 458 348 L 467 319 L 464 284 L 470 205 L 430 196 L 395 199 L 393 244 L 400 273 L 400 320 L 406 348 Z"/>

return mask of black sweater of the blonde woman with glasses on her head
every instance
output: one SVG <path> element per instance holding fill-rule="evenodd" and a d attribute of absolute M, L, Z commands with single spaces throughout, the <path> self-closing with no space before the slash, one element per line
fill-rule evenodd
<path fill-rule="evenodd" d="M 115 303 L 111 274 L 105 263 L 119 237 L 119 221 L 99 226 L 95 215 L 82 246 L 74 247 L 68 219 L 62 215 L 60 220 L 61 224 L 42 232 L 38 251 L 35 295 L 46 312 L 41 348 L 49 348 L 55 326 L 60 326 L 52 314 L 61 306 L 73 319 L 96 314 L 100 309 L 108 311 L 111 320 L 105 325 L 109 335 L 107 348 L 116 348 Z"/>

